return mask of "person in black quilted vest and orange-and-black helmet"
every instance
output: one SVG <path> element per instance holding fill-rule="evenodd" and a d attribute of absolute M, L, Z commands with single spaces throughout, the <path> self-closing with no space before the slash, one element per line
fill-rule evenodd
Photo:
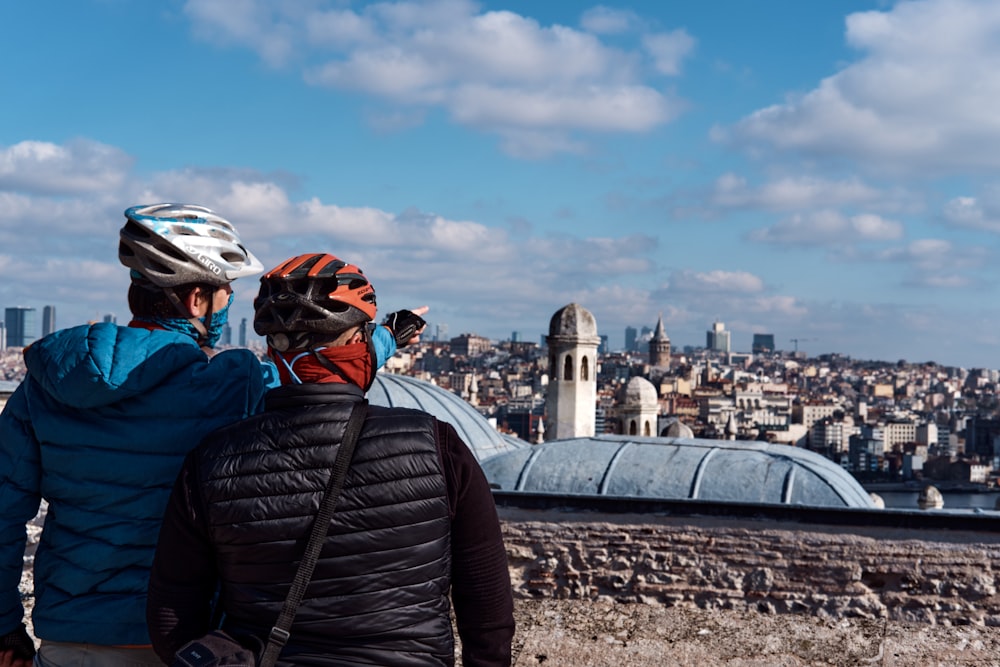
<path fill-rule="evenodd" d="M 346 422 L 376 371 L 375 293 L 325 254 L 261 279 L 254 328 L 282 385 L 263 414 L 187 458 L 160 532 L 147 622 L 166 662 L 212 629 L 266 642 L 298 566 Z M 397 322 L 397 339 L 423 323 Z M 513 600 L 496 508 L 454 429 L 369 406 L 286 665 L 450 665 L 450 604 L 466 667 L 509 665 Z"/>

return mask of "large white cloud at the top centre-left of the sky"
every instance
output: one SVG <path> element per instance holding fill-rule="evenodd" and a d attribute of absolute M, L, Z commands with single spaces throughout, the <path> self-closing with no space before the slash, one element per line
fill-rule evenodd
<path fill-rule="evenodd" d="M 459 124 L 504 137 L 515 156 L 579 152 L 581 139 L 569 132 L 645 132 L 671 121 L 682 102 L 645 83 L 643 68 L 677 74 L 695 43 L 674 30 L 646 34 L 634 50 L 611 46 L 599 35 L 639 26 L 634 15 L 606 8 L 585 14 L 578 30 L 480 12 L 463 0 L 375 3 L 356 12 L 316 1 L 298 9 L 260 0 L 234 5 L 226 11 L 221 0 L 188 0 L 186 9 L 199 35 L 252 48 L 272 63 L 292 61 L 288 49 L 301 49 L 307 83 L 390 105 L 443 108 Z M 550 138 L 526 151 L 510 140 L 525 132 Z"/>

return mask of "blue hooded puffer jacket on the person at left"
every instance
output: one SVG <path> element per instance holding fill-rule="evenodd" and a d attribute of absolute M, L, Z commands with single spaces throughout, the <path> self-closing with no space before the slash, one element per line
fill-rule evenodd
<path fill-rule="evenodd" d="M 45 498 L 36 635 L 148 644 L 149 567 L 177 471 L 205 434 L 262 407 L 276 369 L 112 324 L 58 331 L 25 362 L 0 415 L 0 635 L 22 620 L 24 525 Z"/>

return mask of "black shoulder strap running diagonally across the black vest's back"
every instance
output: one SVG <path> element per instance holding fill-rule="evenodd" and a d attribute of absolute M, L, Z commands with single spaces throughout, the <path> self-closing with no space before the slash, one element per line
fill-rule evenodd
<path fill-rule="evenodd" d="M 344 431 L 344 440 L 340 443 L 340 450 L 337 451 L 337 458 L 333 462 L 333 472 L 330 474 L 330 481 L 326 486 L 326 493 L 323 502 L 320 503 L 319 512 L 313 522 L 312 532 L 309 534 L 309 542 L 306 544 L 306 551 L 302 554 L 302 561 L 299 563 L 298 572 L 295 573 L 295 580 L 288 591 L 288 597 L 281 607 L 278 620 L 271 628 L 271 635 L 267 639 L 267 648 L 258 663 L 259 667 L 273 667 L 278 660 L 281 649 L 288 641 L 289 630 L 292 621 L 295 620 L 295 613 L 302 603 L 302 596 L 305 595 L 309 580 L 312 579 L 313 570 L 316 567 L 316 559 L 323 549 L 323 541 L 330 530 L 330 518 L 337 505 L 337 498 L 340 490 L 344 487 L 344 478 L 347 476 L 347 469 L 351 466 L 351 456 L 354 454 L 354 446 L 361 435 L 361 427 L 365 423 L 365 415 L 368 412 L 368 401 L 362 400 L 355 404 L 351 410 L 351 418 L 347 422 Z"/>

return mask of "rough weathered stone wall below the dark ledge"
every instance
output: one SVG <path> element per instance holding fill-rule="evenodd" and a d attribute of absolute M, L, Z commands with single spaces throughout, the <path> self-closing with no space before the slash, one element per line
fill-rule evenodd
<path fill-rule="evenodd" d="M 515 595 L 1000 626 L 1000 534 L 499 508 Z"/>

